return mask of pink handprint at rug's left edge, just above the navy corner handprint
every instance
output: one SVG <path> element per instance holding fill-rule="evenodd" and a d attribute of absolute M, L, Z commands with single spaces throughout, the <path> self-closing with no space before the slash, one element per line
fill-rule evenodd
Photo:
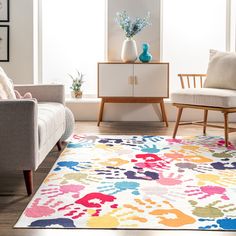
<path fill-rule="evenodd" d="M 56 211 L 55 208 L 63 203 L 62 201 L 55 202 L 55 199 L 51 198 L 44 204 L 39 205 L 40 200 L 41 198 L 36 198 L 32 205 L 25 210 L 25 215 L 27 217 L 39 218 L 50 216 Z"/>

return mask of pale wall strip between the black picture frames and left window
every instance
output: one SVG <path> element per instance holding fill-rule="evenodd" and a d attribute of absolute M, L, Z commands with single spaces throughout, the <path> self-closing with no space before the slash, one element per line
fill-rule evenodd
<path fill-rule="evenodd" d="M 10 0 L 10 61 L 0 66 L 16 84 L 38 81 L 38 0 Z"/>

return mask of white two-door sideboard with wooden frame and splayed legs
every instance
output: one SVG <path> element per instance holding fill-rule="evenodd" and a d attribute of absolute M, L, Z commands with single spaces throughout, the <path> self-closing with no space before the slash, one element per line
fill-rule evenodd
<path fill-rule="evenodd" d="M 169 63 L 98 63 L 98 97 L 98 126 L 105 103 L 160 103 L 168 126 L 163 99 L 169 97 Z"/>

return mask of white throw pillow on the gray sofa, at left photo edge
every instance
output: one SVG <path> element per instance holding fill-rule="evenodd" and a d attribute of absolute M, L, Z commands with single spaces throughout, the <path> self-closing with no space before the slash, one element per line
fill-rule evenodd
<path fill-rule="evenodd" d="M 7 77 L 4 70 L 0 67 L 0 98 L 16 99 L 12 81 Z"/>

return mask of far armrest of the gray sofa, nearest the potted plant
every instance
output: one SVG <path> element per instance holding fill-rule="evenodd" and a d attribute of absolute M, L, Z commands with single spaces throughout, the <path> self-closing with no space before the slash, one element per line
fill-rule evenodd
<path fill-rule="evenodd" d="M 65 88 L 62 84 L 14 85 L 22 95 L 30 92 L 38 102 L 59 102 L 65 104 Z"/>

